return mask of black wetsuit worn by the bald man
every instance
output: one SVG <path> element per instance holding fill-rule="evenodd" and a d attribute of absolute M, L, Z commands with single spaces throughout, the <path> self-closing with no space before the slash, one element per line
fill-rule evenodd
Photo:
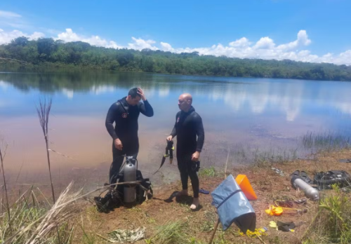
<path fill-rule="evenodd" d="M 176 124 L 171 135 L 177 136 L 177 161 L 182 180 L 183 190 L 187 189 L 187 177 L 190 177 L 194 198 L 199 197 L 199 178 L 194 170 L 195 162 L 192 154 L 201 152 L 204 145 L 205 133 L 202 119 L 191 107 L 189 111 L 179 111 L 176 115 Z"/>

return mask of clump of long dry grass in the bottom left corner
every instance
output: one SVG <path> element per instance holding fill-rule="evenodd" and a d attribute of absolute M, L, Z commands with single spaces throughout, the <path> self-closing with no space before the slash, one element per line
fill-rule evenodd
<path fill-rule="evenodd" d="M 77 203 L 81 194 L 79 191 L 70 193 L 71 188 L 72 183 L 49 209 L 39 205 L 32 188 L 25 191 L 11 208 L 11 221 L 6 215 L 0 217 L 1 240 L 18 244 L 71 243 L 73 223 L 69 220 L 82 210 Z"/>

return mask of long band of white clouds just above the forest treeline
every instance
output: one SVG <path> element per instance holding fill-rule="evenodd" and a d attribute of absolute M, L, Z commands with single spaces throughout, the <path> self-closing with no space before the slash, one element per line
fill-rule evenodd
<path fill-rule="evenodd" d="M 1 12 L 0 12 L 1 13 Z M 9 14 L 7 14 L 9 15 Z M 4 32 L 0 29 L 0 44 L 8 43 L 18 36 L 29 36 L 31 39 L 38 39 L 43 37 L 41 32 L 34 32 L 27 35 L 19 30 L 12 32 Z M 53 33 L 50 34 L 51 36 Z M 48 36 L 49 37 L 49 36 Z M 325 55 L 314 55 L 307 50 L 306 47 L 312 43 L 307 36 L 305 30 L 300 30 L 297 34 L 297 39 L 289 43 L 282 43 L 277 45 L 269 36 L 260 38 L 258 41 L 249 41 L 246 37 L 231 41 L 227 45 L 217 44 L 208 47 L 197 48 L 173 48 L 170 43 L 160 41 L 157 43 L 154 40 L 145 40 L 141 38 L 132 37 L 131 43 L 126 46 L 117 44 L 116 41 L 108 41 L 100 36 L 83 36 L 73 32 L 72 29 L 65 29 L 65 32 L 53 36 L 54 39 L 62 41 L 84 41 L 90 43 L 92 46 L 102 46 L 105 48 L 130 48 L 135 50 L 143 50 L 149 48 L 151 50 L 164 50 L 172 53 L 192 53 L 198 52 L 200 55 L 215 55 L 239 58 L 259 58 L 264 60 L 295 60 L 303 62 L 330 62 L 336 65 L 351 65 L 351 50 L 345 50 L 340 54 L 326 53 Z"/>

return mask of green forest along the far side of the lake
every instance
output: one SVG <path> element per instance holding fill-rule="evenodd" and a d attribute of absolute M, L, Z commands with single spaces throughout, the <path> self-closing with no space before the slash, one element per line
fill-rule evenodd
<path fill-rule="evenodd" d="M 65 43 L 42 38 L 18 37 L 0 46 L 0 70 L 7 72 L 43 69 L 101 69 L 124 72 L 197 74 L 257 78 L 351 81 L 351 67 L 291 60 L 259 60 L 171 53 L 162 50 L 131 50 L 91 46 L 81 41 Z"/>

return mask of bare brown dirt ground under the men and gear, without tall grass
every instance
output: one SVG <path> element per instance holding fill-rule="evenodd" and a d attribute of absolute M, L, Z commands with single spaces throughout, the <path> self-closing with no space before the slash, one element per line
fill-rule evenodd
<path fill-rule="evenodd" d="M 307 212 L 300 215 L 288 215 L 283 212 L 282 216 L 274 217 L 267 215 L 265 210 L 274 204 L 274 199 L 291 198 L 298 200 L 305 198 L 303 192 L 296 191 L 291 187 L 291 177 L 289 175 L 293 171 L 305 170 L 311 179 L 313 179 L 315 172 L 320 171 L 345 170 L 351 172 L 351 163 L 338 162 L 342 158 L 351 158 L 351 150 L 319 154 L 309 161 L 297 160 L 284 164 L 260 165 L 260 167 L 257 165 L 237 167 L 228 173 L 231 173 L 234 177 L 239 174 L 246 175 L 256 191 L 258 200 L 250 201 L 250 203 L 257 216 L 256 228 L 267 227 L 268 229 L 267 236 L 261 236 L 265 243 L 301 243 L 301 238 L 317 213 L 317 202 L 307 201 L 305 206 L 298 207 L 299 209 L 307 209 Z M 274 172 L 272 167 L 282 170 L 285 176 Z M 213 191 L 224 178 L 224 172 L 217 172 L 216 177 L 201 177 L 200 187 Z M 201 208 L 192 212 L 189 208 L 192 202 L 191 187 L 189 197 L 173 199 L 171 202 L 165 201 L 173 191 L 179 190 L 181 190 L 180 182 L 165 184 L 154 189 L 154 198 L 142 205 L 131 209 L 117 208 L 108 214 L 97 212 L 93 205 L 86 205 L 86 210 L 77 219 L 82 228 L 76 229 L 73 243 L 88 243 L 87 238 L 94 240 L 91 243 L 106 243 L 96 234 L 106 236 L 107 233 L 115 229 L 131 230 L 140 226 L 145 226 L 146 238 L 151 238 L 157 226 L 178 220 L 187 224 L 184 234 L 189 240 L 194 238 L 193 243 L 208 243 L 217 220 L 216 209 L 211 205 L 211 194 L 200 194 Z M 331 191 L 321 191 L 321 196 L 326 196 Z M 270 228 L 270 221 L 294 222 L 301 225 L 296 227 L 295 232 L 282 232 Z M 82 229 L 84 229 L 85 234 Z M 262 243 L 258 238 L 240 236 L 239 229 L 234 224 L 225 232 L 221 229 L 222 226 L 219 225 L 215 236 L 216 243 Z M 140 240 L 137 243 L 145 243 L 145 240 Z"/>

